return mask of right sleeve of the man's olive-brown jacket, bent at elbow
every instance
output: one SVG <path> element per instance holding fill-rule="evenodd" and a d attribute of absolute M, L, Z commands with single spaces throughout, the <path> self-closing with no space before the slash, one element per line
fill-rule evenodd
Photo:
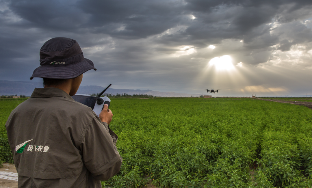
<path fill-rule="evenodd" d="M 117 151 L 118 136 L 98 117 L 93 118 L 80 144 L 83 162 L 92 176 L 101 181 L 110 179 L 120 170 L 122 157 Z"/>

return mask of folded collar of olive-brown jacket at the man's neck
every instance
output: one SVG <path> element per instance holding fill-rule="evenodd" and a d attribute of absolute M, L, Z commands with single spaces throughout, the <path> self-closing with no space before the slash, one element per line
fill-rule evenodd
<path fill-rule="evenodd" d="M 33 98 L 48 98 L 48 97 L 64 97 L 75 101 L 69 94 L 67 94 L 62 89 L 58 88 L 35 88 L 32 92 Z"/>

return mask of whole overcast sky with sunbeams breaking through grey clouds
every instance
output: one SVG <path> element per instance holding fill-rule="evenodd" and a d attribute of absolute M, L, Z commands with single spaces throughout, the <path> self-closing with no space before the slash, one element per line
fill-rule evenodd
<path fill-rule="evenodd" d="M 311 0 L 0 0 L 0 80 L 30 81 L 41 46 L 61 36 L 97 68 L 83 86 L 311 95 L 311 9 Z"/>

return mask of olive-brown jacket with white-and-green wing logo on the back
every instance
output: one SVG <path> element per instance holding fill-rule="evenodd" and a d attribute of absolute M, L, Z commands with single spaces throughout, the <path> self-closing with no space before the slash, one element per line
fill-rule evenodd
<path fill-rule="evenodd" d="M 36 88 L 6 128 L 18 187 L 101 187 L 120 170 L 117 135 L 61 89 Z"/>

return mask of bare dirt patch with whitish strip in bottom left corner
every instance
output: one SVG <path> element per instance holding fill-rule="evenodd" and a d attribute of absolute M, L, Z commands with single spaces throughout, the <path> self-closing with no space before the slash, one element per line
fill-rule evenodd
<path fill-rule="evenodd" d="M 15 165 L 3 163 L 0 167 L 0 187 L 17 187 L 17 171 Z"/>

